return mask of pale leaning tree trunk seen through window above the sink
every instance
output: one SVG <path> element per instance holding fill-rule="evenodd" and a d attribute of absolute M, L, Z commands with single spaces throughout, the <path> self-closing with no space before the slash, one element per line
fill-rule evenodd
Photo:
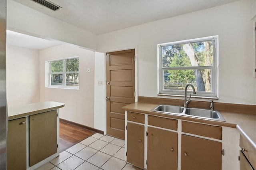
<path fill-rule="evenodd" d="M 192 66 L 198 66 L 199 62 L 196 58 L 196 53 L 193 49 L 192 44 L 184 44 L 183 49 L 186 52 L 186 54 L 188 55 Z M 200 69 L 195 69 L 194 74 L 195 74 L 195 77 L 196 77 L 197 91 L 205 91 L 204 79 L 202 77 L 201 70 Z"/>

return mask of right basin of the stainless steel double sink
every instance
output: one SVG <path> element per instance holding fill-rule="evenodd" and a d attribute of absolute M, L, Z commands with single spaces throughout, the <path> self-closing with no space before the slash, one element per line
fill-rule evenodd
<path fill-rule="evenodd" d="M 225 121 L 225 119 L 222 117 L 222 115 L 218 111 L 212 111 L 207 109 L 186 108 L 184 113 L 192 117 L 212 119 L 216 121 Z"/>

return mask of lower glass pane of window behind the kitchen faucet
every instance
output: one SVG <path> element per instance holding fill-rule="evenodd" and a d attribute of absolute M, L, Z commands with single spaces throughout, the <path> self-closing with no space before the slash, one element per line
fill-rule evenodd
<path fill-rule="evenodd" d="M 186 84 L 191 83 L 196 91 L 212 92 L 212 69 L 168 70 L 163 71 L 163 77 L 164 90 L 184 91 Z"/>

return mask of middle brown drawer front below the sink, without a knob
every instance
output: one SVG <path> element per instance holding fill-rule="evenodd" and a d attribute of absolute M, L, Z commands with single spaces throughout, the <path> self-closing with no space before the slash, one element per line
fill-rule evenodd
<path fill-rule="evenodd" d="M 175 119 L 148 115 L 148 125 L 177 130 L 177 124 L 178 121 Z"/>

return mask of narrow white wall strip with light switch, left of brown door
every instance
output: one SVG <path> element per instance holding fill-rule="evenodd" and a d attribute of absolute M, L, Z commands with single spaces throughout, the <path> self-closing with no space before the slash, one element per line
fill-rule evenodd
<path fill-rule="evenodd" d="M 95 52 L 94 58 L 94 128 L 106 132 L 106 62 L 104 53 Z M 103 85 L 98 85 L 103 81 Z"/>

